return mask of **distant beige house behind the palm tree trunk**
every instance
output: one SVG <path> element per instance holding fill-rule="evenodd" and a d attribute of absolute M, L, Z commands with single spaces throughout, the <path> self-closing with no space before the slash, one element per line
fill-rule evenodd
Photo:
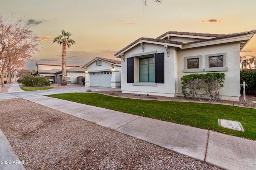
<path fill-rule="evenodd" d="M 43 77 L 48 77 L 51 79 L 54 79 L 56 83 L 60 82 L 60 76 L 61 74 L 59 74 L 58 72 L 61 72 L 62 70 L 62 64 L 61 63 L 36 63 L 37 66 L 37 70 L 36 72 L 31 73 L 32 76 L 43 76 Z M 79 67 L 78 64 L 66 64 L 66 70 L 70 69 L 70 68 L 76 68 Z M 82 68 L 80 68 L 82 69 Z M 78 74 L 80 74 L 81 70 L 78 71 Z M 58 75 L 57 75 L 58 74 Z M 67 73 L 68 76 L 68 73 Z M 83 74 L 84 76 L 84 74 Z M 75 77 L 77 78 L 77 77 Z M 71 78 L 74 79 L 74 78 Z M 73 84 L 74 81 L 71 81 L 71 83 Z"/>

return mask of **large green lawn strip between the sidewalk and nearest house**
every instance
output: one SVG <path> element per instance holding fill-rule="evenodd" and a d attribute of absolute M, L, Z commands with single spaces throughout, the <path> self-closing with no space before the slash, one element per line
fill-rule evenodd
<path fill-rule="evenodd" d="M 94 93 L 48 96 L 256 140 L 256 109 L 192 102 L 138 100 Z M 240 121 L 245 132 L 219 127 L 218 119 Z"/>

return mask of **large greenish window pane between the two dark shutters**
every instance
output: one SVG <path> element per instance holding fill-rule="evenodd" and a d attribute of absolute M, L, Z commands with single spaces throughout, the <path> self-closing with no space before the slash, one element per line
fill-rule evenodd
<path fill-rule="evenodd" d="M 154 57 L 140 59 L 140 82 L 155 82 Z"/>

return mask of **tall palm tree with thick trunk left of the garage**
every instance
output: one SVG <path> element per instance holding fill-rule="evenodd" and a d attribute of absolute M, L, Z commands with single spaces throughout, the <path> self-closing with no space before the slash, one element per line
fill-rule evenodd
<path fill-rule="evenodd" d="M 69 32 L 65 32 L 64 30 L 61 30 L 62 34 L 58 35 L 58 37 L 55 37 L 53 40 L 54 42 L 57 42 L 59 45 L 62 45 L 62 76 L 61 76 L 61 85 L 66 86 L 67 85 L 67 76 L 66 76 L 66 49 L 75 44 L 76 42 L 72 39 L 69 39 L 70 35 L 72 35 Z"/>

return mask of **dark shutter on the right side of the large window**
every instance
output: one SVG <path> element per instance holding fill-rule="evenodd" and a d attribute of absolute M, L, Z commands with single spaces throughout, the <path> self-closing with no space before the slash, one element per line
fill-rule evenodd
<path fill-rule="evenodd" d="M 155 54 L 155 83 L 164 83 L 164 53 Z"/>

